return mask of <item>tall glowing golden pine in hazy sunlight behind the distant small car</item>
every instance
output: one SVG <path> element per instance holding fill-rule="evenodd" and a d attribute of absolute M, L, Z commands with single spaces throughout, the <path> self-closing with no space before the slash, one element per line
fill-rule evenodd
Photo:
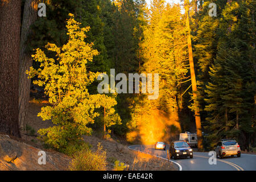
<path fill-rule="evenodd" d="M 167 140 L 172 135 L 173 126 L 179 130 L 177 100 L 180 84 L 187 73 L 187 50 L 184 49 L 187 39 L 180 7 L 155 0 L 147 16 L 140 72 L 159 73 L 159 97 L 148 100 L 141 94 L 135 101 L 133 120 L 129 123 L 131 129 L 138 130 L 143 142 Z"/>

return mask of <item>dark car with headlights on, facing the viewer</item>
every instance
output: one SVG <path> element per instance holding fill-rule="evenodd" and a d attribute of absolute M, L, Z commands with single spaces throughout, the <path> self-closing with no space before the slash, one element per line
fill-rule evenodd
<path fill-rule="evenodd" d="M 174 159 L 185 157 L 193 158 L 193 150 L 189 147 L 188 143 L 185 141 L 176 141 L 172 142 L 169 150 L 170 159 L 173 157 Z"/>

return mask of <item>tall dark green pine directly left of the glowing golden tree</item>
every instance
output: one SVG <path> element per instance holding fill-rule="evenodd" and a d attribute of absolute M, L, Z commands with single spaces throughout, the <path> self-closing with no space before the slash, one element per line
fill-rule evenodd
<path fill-rule="evenodd" d="M 139 44 L 143 40 L 144 1 L 124 0 L 115 2 L 113 12 L 113 46 L 109 53 L 114 61 L 115 71 L 118 73 L 138 73 L 142 64 Z M 112 45 L 112 44 L 110 44 Z M 109 47 L 111 48 L 111 47 Z M 130 125 L 134 101 L 138 94 L 118 94 L 117 111 L 122 119 L 122 125 L 115 131 L 123 135 Z"/>

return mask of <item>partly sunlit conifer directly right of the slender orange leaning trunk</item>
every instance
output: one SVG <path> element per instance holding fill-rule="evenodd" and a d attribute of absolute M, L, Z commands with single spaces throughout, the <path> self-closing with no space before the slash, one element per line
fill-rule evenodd
<path fill-rule="evenodd" d="M 216 3 L 217 16 L 209 16 L 209 4 Z M 193 36 L 193 45 L 195 47 L 195 68 L 197 69 L 197 98 L 194 101 L 200 109 L 200 117 L 202 121 L 202 127 L 208 125 L 205 118 L 208 117 L 208 112 L 204 110 L 205 102 L 204 98 L 206 85 L 209 80 L 210 66 L 216 59 L 218 39 L 220 38 L 220 19 L 222 17 L 221 11 L 226 5 L 226 1 L 204 1 L 200 3 L 199 13 L 195 17 L 198 19 L 195 29 L 196 34 Z M 207 132 L 207 130 L 206 130 Z M 206 144 L 206 143 L 204 143 Z M 204 146 L 207 148 L 207 145 Z"/>

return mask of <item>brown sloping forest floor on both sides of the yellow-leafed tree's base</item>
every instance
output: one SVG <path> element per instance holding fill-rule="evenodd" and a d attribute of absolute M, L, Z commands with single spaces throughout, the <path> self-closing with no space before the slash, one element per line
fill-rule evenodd
<path fill-rule="evenodd" d="M 48 105 L 47 101 L 30 101 L 28 107 L 28 132 L 22 131 L 22 139 L 13 139 L 7 135 L 0 135 L 0 157 L 1 145 L 5 146 L 5 143 L 11 145 L 15 152 L 16 158 L 11 162 L 6 162 L 0 158 L 0 171 L 1 170 L 67 170 L 71 158 L 56 151 L 47 150 L 44 148 L 44 144 L 37 137 L 37 131 L 42 128 L 53 126 L 51 121 L 42 121 L 38 117 L 38 113 L 42 106 Z M 163 171 L 176 171 L 177 166 L 167 160 L 159 159 L 151 155 L 136 152 L 128 148 L 126 142 L 119 142 L 119 140 L 101 139 L 96 136 L 87 137 L 84 136 L 86 143 L 92 146 L 92 151 L 97 150 L 98 143 L 101 144 L 106 151 L 106 159 L 108 162 L 107 169 L 113 170 L 115 160 L 119 160 L 120 163 L 124 163 L 125 170 L 163 170 Z M 15 147 L 18 146 L 18 147 Z M 8 148 L 8 147 L 7 147 Z M 9 147 L 10 148 L 10 147 Z M 40 149 L 39 149 L 40 148 Z M 47 165 L 38 164 L 38 151 L 46 151 Z M 17 154 L 16 154 L 17 153 Z"/>

